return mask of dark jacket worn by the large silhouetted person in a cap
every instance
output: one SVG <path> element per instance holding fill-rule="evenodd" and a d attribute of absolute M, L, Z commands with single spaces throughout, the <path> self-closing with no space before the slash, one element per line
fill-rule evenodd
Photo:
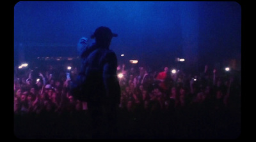
<path fill-rule="evenodd" d="M 113 50 L 97 45 L 88 46 L 81 52 L 86 101 L 120 103 L 120 85 L 116 76 L 117 59 Z"/>

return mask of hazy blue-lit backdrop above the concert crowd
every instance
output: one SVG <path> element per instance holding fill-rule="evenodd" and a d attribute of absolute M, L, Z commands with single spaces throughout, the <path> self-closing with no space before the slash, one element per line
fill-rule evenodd
<path fill-rule="evenodd" d="M 118 34 L 110 47 L 118 58 L 172 64 L 175 57 L 213 62 L 241 54 L 236 2 L 22 1 L 14 7 L 14 61 L 76 56 L 79 38 L 102 25 Z"/>

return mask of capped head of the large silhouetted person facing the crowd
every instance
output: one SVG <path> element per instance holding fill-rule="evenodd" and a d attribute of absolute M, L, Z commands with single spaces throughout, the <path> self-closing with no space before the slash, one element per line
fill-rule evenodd
<path fill-rule="evenodd" d="M 114 34 L 111 29 L 108 27 L 98 27 L 91 38 L 95 38 L 96 44 L 100 46 L 109 46 L 111 39 L 117 37 L 117 34 Z"/>

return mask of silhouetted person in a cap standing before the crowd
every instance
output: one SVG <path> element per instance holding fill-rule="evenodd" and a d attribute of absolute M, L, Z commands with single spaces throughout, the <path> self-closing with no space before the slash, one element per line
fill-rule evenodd
<path fill-rule="evenodd" d="M 91 38 L 95 43 L 87 46 L 87 38 L 81 38 L 77 50 L 83 60 L 81 73 L 84 96 L 92 124 L 92 138 L 113 138 L 116 134 L 116 115 L 120 103 L 120 85 L 116 76 L 117 58 L 109 49 L 111 39 L 116 37 L 108 27 L 98 27 Z"/>

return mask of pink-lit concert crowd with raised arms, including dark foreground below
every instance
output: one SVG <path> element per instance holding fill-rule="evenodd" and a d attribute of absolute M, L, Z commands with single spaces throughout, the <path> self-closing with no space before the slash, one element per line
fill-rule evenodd
<path fill-rule="evenodd" d="M 18 138 L 88 138 L 86 102 L 74 99 L 61 67 L 15 71 L 14 134 Z M 241 132 L 239 72 L 209 69 L 172 73 L 125 64 L 118 66 L 121 87 L 117 138 L 237 138 Z"/>

